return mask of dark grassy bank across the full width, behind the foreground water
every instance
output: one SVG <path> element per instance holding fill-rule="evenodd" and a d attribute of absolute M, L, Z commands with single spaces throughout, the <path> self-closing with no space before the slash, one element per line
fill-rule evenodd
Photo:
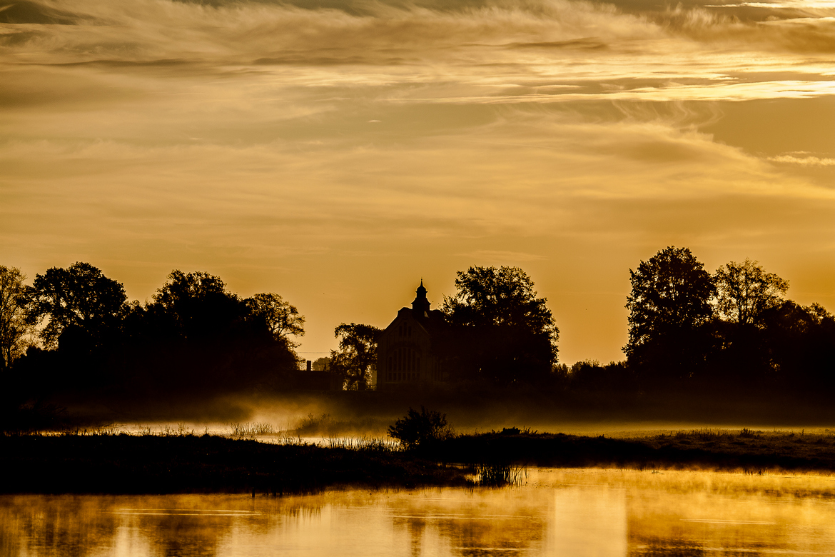
<path fill-rule="evenodd" d="M 326 448 L 213 435 L 6 436 L 0 493 L 278 495 L 340 485 L 472 485 L 470 474 L 483 464 L 835 473 L 835 436 L 701 430 L 610 439 L 512 428 L 412 452 L 384 443 Z"/>

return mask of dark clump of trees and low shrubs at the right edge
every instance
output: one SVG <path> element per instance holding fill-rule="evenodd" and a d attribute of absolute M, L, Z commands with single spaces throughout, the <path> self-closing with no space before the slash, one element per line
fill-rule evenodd
<path fill-rule="evenodd" d="M 557 367 L 569 387 L 621 392 L 799 395 L 835 392 L 835 318 L 788 300 L 757 261 L 714 274 L 667 247 L 630 271 L 625 362 Z"/>

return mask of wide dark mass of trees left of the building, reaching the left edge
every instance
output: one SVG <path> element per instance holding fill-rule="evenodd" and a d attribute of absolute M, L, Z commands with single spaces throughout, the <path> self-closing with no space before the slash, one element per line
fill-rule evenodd
<path fill-rule="evenodd" d="M 175 270 L 140 304 L 84 262 L 25 279 L 0 266 L 4 403 L 68 392 L 200 398 L 297 380 L 305 318 L 276 293 L 242 298 L 219 276 Z"/>

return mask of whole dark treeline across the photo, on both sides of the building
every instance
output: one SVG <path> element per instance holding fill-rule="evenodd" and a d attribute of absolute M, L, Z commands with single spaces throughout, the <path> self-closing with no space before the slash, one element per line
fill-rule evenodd
<path fill-rule="evenodd" d="M 304 317 L 275 293 L 242 298 L 218 276 L 172 271 L 140 304 L 83 262 L 48 269 L 31 286 L 25 278 L 0 266 L 3 408 L 58 395 L 113 408 L 311 387 L 294 351 Z M 459 271 L 433 345 L 447 370 L 444 388 L 557 398 L 835 392 L 835 318 L 819 304 L 788 300 L 788 282 L 757 261 L 711 274 L 690 250 L 667 247 L 640 261 L 630 280 L 625 361 L 569 367 L 558 362 L 547 301 L 524 271 Z M 338 377 L 331 384 L 364 390 L 380 329 L 342 323 L 335 332 L 338 350 L 315 369 Z"/>

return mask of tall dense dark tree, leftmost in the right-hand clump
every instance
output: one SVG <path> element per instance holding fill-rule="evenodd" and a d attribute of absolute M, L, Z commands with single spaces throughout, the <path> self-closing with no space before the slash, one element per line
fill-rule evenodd
<path fill-rule="evenodd" d="M 710 349 L 711 276 L 690 250 L 671 246 L 630 270 L 630 281 L 627 361 L 646 387 L 691 377 Z"/>

